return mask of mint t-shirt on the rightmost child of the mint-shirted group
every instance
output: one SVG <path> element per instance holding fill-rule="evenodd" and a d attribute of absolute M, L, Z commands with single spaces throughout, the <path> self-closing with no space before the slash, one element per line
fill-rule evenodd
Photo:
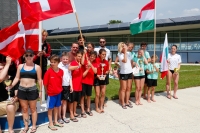
<path fill-rule="evenodd" d="M 155 66 L 159 69 L 160 66 L 158 63 L 155 63 Z M 152 63 L 149 63 L 148 65 L 145 66 L 146 67 L 146 70 L 149 70 L 149 71 L 153 71 L 153 73 L 150 73 L 147 75 L 147 78 L 148 79 L 158 79 L 158 72 L 156 72 L 156 69 L 153 67 L 153 64 Z"/>

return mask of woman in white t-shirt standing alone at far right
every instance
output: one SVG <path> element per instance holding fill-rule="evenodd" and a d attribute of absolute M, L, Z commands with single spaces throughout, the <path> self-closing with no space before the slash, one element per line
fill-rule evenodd
<path fill-rule="evenodd" d="M 181 56 L 176 53 L 177 52 L 177 46 L 172 45 L 171 47 L 171 53 L 168 54 L 168 63 L 169 63 L 169 71 L 167 74 L 167 80 L 166 80 L 166 90 L 167 90 L 167 98 L 171 98 L 170 95 L 170 84 L 171 80 L 174 81 L 174 94 L 173 98 L 178 99 L 176 92 L 178 90 L 178 81 L 179 81 L 179 70 L 181 68 Z"/>

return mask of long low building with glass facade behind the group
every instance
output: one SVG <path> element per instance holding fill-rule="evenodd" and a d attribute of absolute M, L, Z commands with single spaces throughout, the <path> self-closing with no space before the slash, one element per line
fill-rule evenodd
<path fill-rule="evenodd" d="M 153 54 L 154 33 L 152 31 L 137 35 L 130 35 L 130 22 L 120 24 L 104 24 L 81 27 L 86 41 L 93 42 L 99 46 L 99 37 L 106 38 L 106 47 L 112 52 L 112 59 L 117 55 L 119 42 L 134 42 L 134 51 L 140 47 L 140 43 L 148 43 L 147 50 Z M 156 54 L 160 56 L 163 48 L 165 34 L 168 34 L 169 47 L 173 44 L 178 46 L 178 53 L 183 63 L 200 61 L 200 16 L 178 17 L 156 20 Z M 69 51 L 72 42 L 77 41 L 79 30 L 77 27 L 49 30 L 48 42 L 51 44 L 53 53 L 61 54 Z M 170 50 L 170 49 L 169 49 Z"/>

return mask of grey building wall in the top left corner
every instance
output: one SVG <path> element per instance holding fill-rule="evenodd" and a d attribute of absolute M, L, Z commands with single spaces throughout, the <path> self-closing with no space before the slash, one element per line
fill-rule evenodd
<path fill-rule="evenodd" d="M 18 21 L 17 0 L 0 0 L 0 29 Z"/>

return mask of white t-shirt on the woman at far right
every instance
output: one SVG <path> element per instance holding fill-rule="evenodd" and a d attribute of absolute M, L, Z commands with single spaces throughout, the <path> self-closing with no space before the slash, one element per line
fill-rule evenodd
<path fill-rule="evenodd" d="M 169 60 L 169 70 L 174 70 L 174 68 L 178 68 L 178 64 L 181 63 L 181 56 L 179 54 L 172 55 L 168 54 Z"/>

